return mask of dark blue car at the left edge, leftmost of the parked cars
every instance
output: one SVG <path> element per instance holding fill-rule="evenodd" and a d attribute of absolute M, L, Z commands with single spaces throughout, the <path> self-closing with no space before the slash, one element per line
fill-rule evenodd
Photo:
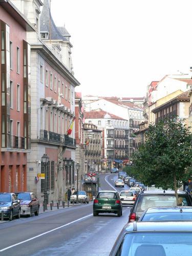
<path fill-rule="evenodd" d="M 14 193 L 0 193 L 0 214 L 12 221 L 13 217 L 20 218 L 20 201 Z"/>

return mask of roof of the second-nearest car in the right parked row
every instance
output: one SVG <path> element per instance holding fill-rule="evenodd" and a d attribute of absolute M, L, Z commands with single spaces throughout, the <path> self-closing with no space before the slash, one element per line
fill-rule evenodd
<path fill-rule="evenodd" d="M 191 206 L 161 206 L 161 207 L 151 207 L 146 210 L 146 214 L 152 213 L 162 213 L 162 212 L 192 212 Z"/>

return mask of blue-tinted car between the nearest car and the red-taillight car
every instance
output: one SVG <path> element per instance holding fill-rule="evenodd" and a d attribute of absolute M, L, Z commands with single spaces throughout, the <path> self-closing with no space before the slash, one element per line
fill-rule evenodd
<path fill-rule="evenodd" d="M 190 206 L 161 206 L 144 210 L 139 221 L 192 221 Z"/>

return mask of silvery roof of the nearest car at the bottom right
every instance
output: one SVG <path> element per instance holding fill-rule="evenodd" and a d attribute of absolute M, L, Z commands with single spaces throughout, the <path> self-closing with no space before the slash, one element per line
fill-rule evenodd
<path fill-rule="evenodd" d="M 146 221 L 130 222 L 123 228 L 124 232 L 134 231 L 190 231 L 192 232 L 192 221 Z"/>

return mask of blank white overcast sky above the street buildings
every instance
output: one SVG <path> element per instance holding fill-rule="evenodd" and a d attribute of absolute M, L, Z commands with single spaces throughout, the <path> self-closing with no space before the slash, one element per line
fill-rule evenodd
<path fill-rule="evenodd" d="M 146 86 L 192 66 L 191 0 L 52 0 L 71 34 L 83 95 L 141 97 Z"/>

